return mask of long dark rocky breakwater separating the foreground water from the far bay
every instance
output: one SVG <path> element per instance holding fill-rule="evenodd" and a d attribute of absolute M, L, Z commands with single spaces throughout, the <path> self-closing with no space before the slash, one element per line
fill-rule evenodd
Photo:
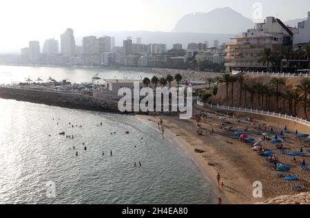
<path fill-rule="evenodd" d="M 117 102 L 115 101 L 101 100 L 81 94 L 0 87 L 0 98 L 66 107 L 70 109 L 85 109 L 90 111 L 114 113 L 119 112 Z"/>

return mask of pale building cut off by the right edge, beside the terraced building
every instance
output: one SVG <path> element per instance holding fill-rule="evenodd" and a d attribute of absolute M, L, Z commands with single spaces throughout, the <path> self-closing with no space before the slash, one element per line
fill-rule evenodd
<path fill-rule="evenodd" d="M 303 44 L 310 42 L 310 12 L 305 21 L 298 23 L 298 28 L 294 29 L 293 44 Z"/>

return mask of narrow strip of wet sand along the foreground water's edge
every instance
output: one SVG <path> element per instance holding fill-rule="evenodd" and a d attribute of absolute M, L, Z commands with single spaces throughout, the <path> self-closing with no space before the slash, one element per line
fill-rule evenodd
<path fill-rule="evenodd" d="M 156 122 L 149 119 L 151 116 L 136 115 L 134 117 L 138 120 L 141 120 L 142 122 L 148 123 L 149 127 L 159 131 L 156 128 Z M 199 173 L 204 177 L 205 181 L 210 183 L 209 185 L 212 188 L 211 191 L 213 191 L 217 197 L 220 197 L 223 200 L 223 204 L 231 204 L 231 200 L 229 200 L 227 195 L 223 193 L 223 190 L 220 190 L 215 177 L 211 175 L 211 167 L 206 164 L 206 162 L 198 153 L 194 152 L 192 146 L 187 142 L 182 142 L 179 138 L 176 138 L 176 134 L 170 129 L 165 129 L 165 136 L 167 137 L 167 140 L 169 140 L 169 142 L 171 142 L 172 145 L 178 149 L 178 151 L 187 155 L 187 157 L 192 160 Z"/>

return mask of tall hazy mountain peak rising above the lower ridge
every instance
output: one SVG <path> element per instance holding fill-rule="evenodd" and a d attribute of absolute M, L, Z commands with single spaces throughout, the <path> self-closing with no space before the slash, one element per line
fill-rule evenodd
<path fill-rule="evenodd" d="M 207 32 L 238 34 L 254 28 L 254 22 L 231 8 L 218 8 L 211 12 L 186 14 L 176 23 L 172 32 Z"/>

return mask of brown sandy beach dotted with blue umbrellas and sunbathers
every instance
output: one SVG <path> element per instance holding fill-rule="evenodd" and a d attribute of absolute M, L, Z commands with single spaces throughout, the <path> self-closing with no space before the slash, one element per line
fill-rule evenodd
<path fill-rule="evenodd" d="M 195 108 L 194 111 L 200 111 L 201 108 Z M 206 111 L 208 112 L 208 111 Z M 303 171 L 298 164 L 292 162 L 293 157 L 281 154 L 276 145 L 270 142 L 262 142 L 265 150 L 275 151 L 276 160 L 280 164 L 291 167 L 290 175 L 298 175 L 299 180 L 295 182 L 287 182 L 284 178 L 279 177 L 271 163 L 264 160 L 264 156 L 258 155 L 253 151 L 249 144 L 240 140 L 233 140 L 231 137 L 233 132 L 224 131 L 220 128 L 223 122 L 218 120 L 219 114 L 208 113 L 207 118 L 201 122 L 203 135 L 198 135 L 197 123 L 194 119 L 179 120 L 178 116 L 138 116 L 138 118 L 153 122 L 156 127 L 158 122 L 163 119 L 163 127 L 165 134 L 167 130 L 171 131 L 171 135 L 182 143 L 187 149 L 189 156 L 194 160 L 200 171 L 216 186 L 216 193 L 224 199 L 226 204 L 254 204 L 264 201 L 270 197 L 280 195 L 296 194 L 298 192 L 291 190 L 292 186 L 303 184 L 302 191 L 309 191 L 309 171 Z M 240 124 L 238 124 L 240 120 Z M 245 118 L 226 117 L 226 121 L 231 123 L 231 127 L 236 127 L 238 131 L 243 131 L 249 137 L 256 140 L 261 136 L 256 135 L 258 131 L 265 132 L 263 125 L 268 125 L 274 131 L 280 133 L 283 127 L 273 123 L 254 120 L 247 122 Z M 284 124 L 285 125 L 285 124 Z M 259 129 L 260 128 L 260 129 Z M 214 133 L 211 133 L 214 129 Z M 245 131 L 245 129 L 248 129 Z M 293 135 L 287 133 L 287 139 L 290 143 L 283 143 L 288 151 L 300 151 L 300 142 Z M 306 145 L 304 145 L 306 146 Z M 305 151 L 309 148 L 304 147 Z M 306 160 L 310 162 L 309 157 L 296 157 L 296 161 L 302 162 Z M 216 175 L 220 173 L 221 182 L 224 183 L 222 188 L 218 185 Z M 262 182 L 262 198 L 253 197 L 253 183 Z"/>

